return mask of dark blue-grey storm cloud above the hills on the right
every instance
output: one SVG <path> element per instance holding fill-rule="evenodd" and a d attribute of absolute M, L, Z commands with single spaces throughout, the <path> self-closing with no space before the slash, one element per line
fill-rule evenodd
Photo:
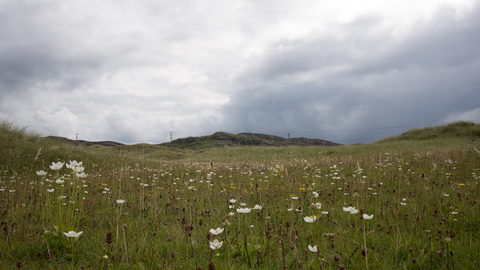
<path fill-rule="evenodd" d="M 243 89 L 223 108 L 227 122 L 236 131 L 371 142 L 402 129 L 360 129 L 433 125 L 480 107 L 478 4 L 460 17 L 443 8 L 407 35 L 382 23 L 366 15 L 272 44 L 239 76 Z"/>

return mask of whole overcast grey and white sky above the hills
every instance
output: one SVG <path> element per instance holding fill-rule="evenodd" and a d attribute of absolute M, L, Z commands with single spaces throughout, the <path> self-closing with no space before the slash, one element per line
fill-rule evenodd
<path fill-rule="evenodd" d="M 127 144 L 480 122 L 480 1 L 0 0 L 0 118 Z"/>

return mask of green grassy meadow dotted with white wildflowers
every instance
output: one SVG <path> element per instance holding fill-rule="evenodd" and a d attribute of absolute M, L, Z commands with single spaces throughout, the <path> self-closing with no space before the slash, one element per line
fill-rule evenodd
<path fill-rule="evenodd" d="M 2 269 L 479 269 L 480 125 L 338 147 L 61 143 L 0 123 Z"/>

